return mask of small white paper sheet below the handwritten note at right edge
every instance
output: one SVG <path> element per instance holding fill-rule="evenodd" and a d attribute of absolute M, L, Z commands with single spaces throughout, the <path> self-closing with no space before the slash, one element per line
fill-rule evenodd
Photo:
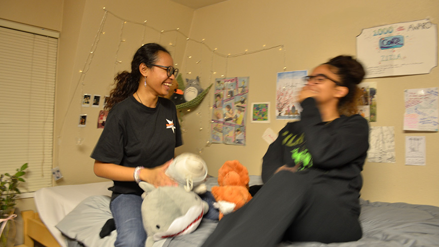
<path fill-rule="evenodd" d="M 425 163 L 425 136 L 406 136 L 406 165 Z"/>

